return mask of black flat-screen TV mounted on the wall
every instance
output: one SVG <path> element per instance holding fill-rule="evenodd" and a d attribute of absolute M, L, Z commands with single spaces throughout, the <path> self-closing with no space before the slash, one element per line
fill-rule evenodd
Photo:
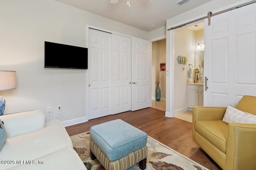
<path fill-rule="evenodd" d="M 88 69 L 88 48 L 44 41 L 44 68 Z"/>

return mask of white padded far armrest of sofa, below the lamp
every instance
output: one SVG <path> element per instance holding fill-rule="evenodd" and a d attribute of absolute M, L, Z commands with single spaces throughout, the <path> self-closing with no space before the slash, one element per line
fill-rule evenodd
<path fill-rule="evenodd" d="M 41 110 L 2 115 L 7 137 L 38 131 L 44 128 L 44 113 Z"/>

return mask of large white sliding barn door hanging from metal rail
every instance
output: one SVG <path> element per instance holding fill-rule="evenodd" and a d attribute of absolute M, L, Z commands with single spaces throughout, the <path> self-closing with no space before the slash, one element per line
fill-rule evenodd
<path fill-rule="evenodd" d="M 256 96 L 256 3 L 204 24 L 204 106 L 236 106 L 242 96 Z"/>

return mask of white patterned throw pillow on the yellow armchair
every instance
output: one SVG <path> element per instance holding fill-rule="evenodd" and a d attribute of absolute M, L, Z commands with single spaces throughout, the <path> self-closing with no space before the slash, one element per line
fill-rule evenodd
<path fill-rule="evenodd" d="M 238 110 L 228 105 L 222 121 L 226 123 L 256 124 L 256 115 L 251 113 L 246 113 L 244 111 Z"/>

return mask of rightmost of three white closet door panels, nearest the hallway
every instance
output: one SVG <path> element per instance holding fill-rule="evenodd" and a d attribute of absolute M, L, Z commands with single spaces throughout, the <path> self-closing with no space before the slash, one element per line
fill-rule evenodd
<path fill-rule="evenodd" d="M 132 111 L 151 107 L 151 42 L 132 37 Z"/>

